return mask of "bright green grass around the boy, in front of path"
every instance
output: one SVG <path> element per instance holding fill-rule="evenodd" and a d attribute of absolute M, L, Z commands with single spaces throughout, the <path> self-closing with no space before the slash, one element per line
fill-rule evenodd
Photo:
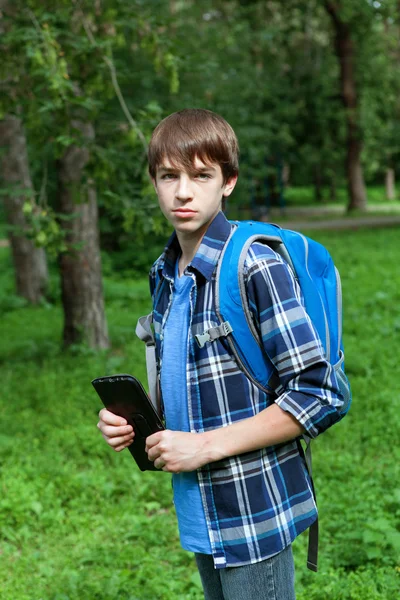
<path fill-rule="evenodd" d="M 297 597 L 395 600 L 399 229 L 311 235 L 341 271 L 354 400 L 349 415 L 314 443 L 320 571 L 307 571 L 301 536 L 294 544 Z M 200 600 L 192 557 L 179 546 L 169 475 L 141 473 L 95 427 L 92 378 L 119 371 L 145 379 L 134 328 L 149 308 L 147 281 L 105 280 L 113 348 L 101 353 L 62 353 L 57 303 L 27 307 L 12 285 L 9 251 L 1 248 L 1 599 Z"/>

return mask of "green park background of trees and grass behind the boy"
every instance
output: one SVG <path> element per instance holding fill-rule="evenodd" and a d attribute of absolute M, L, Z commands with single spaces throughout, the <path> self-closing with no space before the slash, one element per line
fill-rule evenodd
<path fill-rule="evenodd" d="M 169 480 L 112 455 L 89 389 L 145 379 L 134 326 L 170 233 L 149 136 L 174 110 L 222 114 L 232 218 L 398 216 L 400 3 L 0 0 L 0 34 L 1 597 L 200 598 Z M 391 600 L 398 228 L 313 237 L 342 273 L 355 402 L 315 444 L 323 555 L 307 573 L 297 543 L 299 598 Z"/>

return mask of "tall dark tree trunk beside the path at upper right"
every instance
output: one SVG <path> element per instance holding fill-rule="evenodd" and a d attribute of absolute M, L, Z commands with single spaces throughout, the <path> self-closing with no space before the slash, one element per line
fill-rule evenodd
<path fill-rule="evenodd" d="M 348 211 L 366 210 L 367 194 L 361 165 L 362 141 L 354 72 L 354 44 L 349 25 L 340 18 L 340 3 L 326 0 L 325 7 L 335 28 L 335 51 L 339 59 L 341 95 L 346 111 Z"/>

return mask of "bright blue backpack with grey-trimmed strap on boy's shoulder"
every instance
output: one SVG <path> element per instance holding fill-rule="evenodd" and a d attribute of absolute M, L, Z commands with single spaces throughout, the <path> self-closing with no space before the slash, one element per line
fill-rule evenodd
<path fill-rule="evenodd" d="M 340 277 L 329 252 L 301 233 L 281 229 L 271 223 L 233 221 L 236 227 L 225 244 L 217 267 L 216 309 L 221 325 L 196 336 L 197 343 L 226 337 L 239 367 L 256 385 L 268 389 L 274 367 L 262 349 L 248 306 L 244 282 L 244 262 L 254 242 L 267 244 L 289 264 L 302 290 L 307 314 L 316 328 L 332 364 L 343 396 L 342 417 L 351 404 L 351 391 L 344 372 L 342 343 L 342 293 Z M 310 438 L 305 460 L 312 481 Z M 312 483 L 314 486 L 314 484 Z M 314 492 L 315 496 L 315 492 Z M 309 532 L 307 566 L 316 571 L 318 559 L 318 520 Z"/>

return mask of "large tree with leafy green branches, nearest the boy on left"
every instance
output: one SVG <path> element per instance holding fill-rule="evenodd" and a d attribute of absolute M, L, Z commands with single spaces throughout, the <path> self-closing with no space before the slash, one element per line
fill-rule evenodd
<path fill-rule="evenodd" d="M 41 213 L 40 242 L 51 244 L 51 249 L 59 254 L 64 344 L 85 341 L 92 347 L 104 348 L 108 335 L 101 286 L 96 179 L 102 184 L 104 174 L 111 175 L 111 191 L 113 178 L 116 185 L 121 178 L 118 165 L 115 173 L 110 169 L 105 148 L 96 147 L 94 132 L 98 116 L 111 106 L 114 111 L 113 105 L 117 104 L 119 116 L 113 118 L 113 136 L 118 132 L 120 137 L 127 137 L 120 127 L 124 113 L 130 119 L 131 146 L 136 151 L 140 148 L 141 158 L 132 161 L 132 171 L 135 161 L 144 170 L 146 140 L 125 104 L 113 58 L 114 52 L 130 43 L 122 31 L 129 36 L 142 17 L 135 13 L 133 3 L 127 5 L 118 0 L 112 7 L 61 2 L 57 11 L 51 2 L 31 0 L 24 6 L 18 4 L 2 0 L 1 24 L 6 32 L 2 40 L 6 50 L 2 79 L 7 79 L 10 94 L 2 99 L 1 109 L 6 112 L 16 104 L 21 106 L 32 134 L 34 170 L 46 175 L 48 170 L 50 174 L 48 181 L 47 176 L 43 178 L 48 210 Z M 123 56 L 126 72 L 130 70 L 129 54 Z M 32 214 L 33 197 L 25 201 Z M 43 250 L 38 252 L 43 254 Z"/>

